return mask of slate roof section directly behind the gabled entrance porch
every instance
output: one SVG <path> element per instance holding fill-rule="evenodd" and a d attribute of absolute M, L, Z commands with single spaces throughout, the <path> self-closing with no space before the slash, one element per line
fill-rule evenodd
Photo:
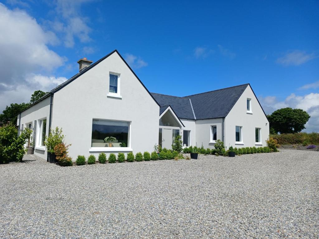
<path fill-rule="evenodd" d="M 159 114 L 161 114 L 161 109 L 164 108 L 164 106 L 166 106 L 167 108 L 167 106 L 170 105 L 178 118 L 195 120 L 189 98 L 163 95 L 158 93 L 151 93 L 151 95 L 161 107 L 159 110 Z M 162 110 L 162 112 L 164 110 Z"/>

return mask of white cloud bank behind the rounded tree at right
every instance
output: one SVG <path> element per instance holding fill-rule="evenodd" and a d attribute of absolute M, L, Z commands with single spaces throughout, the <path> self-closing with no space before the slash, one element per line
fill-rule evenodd
<path fill-rule="evenodd" d="M 278 101 L 275 96 L 260 97 L 259 100 L 267 114 L 286 107 L 307 111 L 310 119 L 303 131 L 319 132 L 319 93 L 310 93 L 304 96 L 291 94 L 284 101 Z"/>

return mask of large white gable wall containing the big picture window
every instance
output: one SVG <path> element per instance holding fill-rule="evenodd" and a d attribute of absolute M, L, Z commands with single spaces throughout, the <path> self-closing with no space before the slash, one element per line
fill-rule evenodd
<path fill-rule="evenodd" d="M 122 99 L 107 96 L 109 72 L 121 74 Z M 73 160 L 100 153 L 90 151 L 93 118 L 130 121 L 134 154 L 152 152 L 158 144 L 159 106 L 116 52 L 54 94 L 52 129 L 63 128 Z"/>

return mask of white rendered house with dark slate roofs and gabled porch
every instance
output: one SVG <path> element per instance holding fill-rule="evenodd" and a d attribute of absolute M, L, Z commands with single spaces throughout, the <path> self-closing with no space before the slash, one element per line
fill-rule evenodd
<path fill-rule="evenodd" d="M 34 154 L 47 159 L 44 137 L 63 128 L 69 155 L 153 151 L 184 146 L 266 146 L 269 122 L 249 84 L 186 97 L 150 93 L 117 50 L 80 71 L 18 115 L 19 132 L 33 129 Z M 116 140 L 105 142 L 106 137 Z"/>

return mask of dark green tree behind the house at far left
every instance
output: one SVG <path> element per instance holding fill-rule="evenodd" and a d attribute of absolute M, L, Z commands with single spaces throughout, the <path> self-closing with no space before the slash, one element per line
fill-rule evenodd
<path fill-rule="evenodd" d="M 18 114 L 29 107 L 29 105 L 29 103 L 12 103 L 10 106 L 7 105 L 2 114 L 0 114 L 0 126 L 4 126 L 7 123 L 17 125 Z"/>

